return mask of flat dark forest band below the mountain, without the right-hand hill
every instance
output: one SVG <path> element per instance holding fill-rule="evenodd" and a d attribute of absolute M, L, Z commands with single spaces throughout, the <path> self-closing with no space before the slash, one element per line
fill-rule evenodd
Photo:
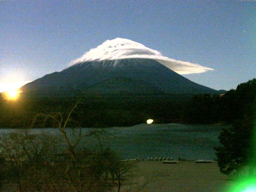
<path fill-rule="evenodd" d="M 0 127 L 30 127 L 37 114 L 62 112 L 67 116 L 79 99 L 83 104 L 72 114 L 69 127 L 132 126 L 145 123 L 149 118 L 158 123 L 180 122 L 189 98 L 191 96 L 184 95 L 27 98 L 21 94 L 18 100 L 2 99 L 0 102 Z M 52 126 L 45 124 L 45 127 Z M 42 127 L 42 124 L 38 124 L 38 127 Z"/>

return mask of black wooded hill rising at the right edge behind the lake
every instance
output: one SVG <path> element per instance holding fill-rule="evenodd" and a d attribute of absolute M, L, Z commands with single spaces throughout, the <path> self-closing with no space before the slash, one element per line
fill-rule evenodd
<path fill-rule="evenodd" d="M 189 124 L 232 123 L 254 113 L 256 79 L 239 84 L 224 95 L 193 96 L 184 108 L 183 120 Z"/>

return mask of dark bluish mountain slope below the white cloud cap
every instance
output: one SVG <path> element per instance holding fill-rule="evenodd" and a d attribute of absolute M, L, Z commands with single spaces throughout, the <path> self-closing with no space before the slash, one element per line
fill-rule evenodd
<path fill-rule="evenodd" d="M 111 89 L 107 88 L 111 80 L 114 93 L 118 87 L 122 86 L 121 79 L 126 79 L 127 86 L 117 91 L 122 93 L 144 94 L 146 90 L 174 94 L 217 93 L 216 90 L 184 78 L 156 60 L 142 58 L 81 62 L 61 72 L 54 72 L 30 82 L 21 90 L 39 92 L 44 90 L 77 92 L 79 90 L 86 93 L 98 89 L 97 92 L 100 93 L 111 93 Z M 128 79 L 131 82 L 127 84 Z"/>

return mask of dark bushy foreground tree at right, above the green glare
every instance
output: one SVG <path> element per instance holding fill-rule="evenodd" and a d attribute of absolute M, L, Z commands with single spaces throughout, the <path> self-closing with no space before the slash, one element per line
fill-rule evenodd
<path fill-rule="evenodd" d="M 220 172 L 230 174 L 251 162 L 254 158 L 252 144 L 254 140 L 252 122 L 236 121 L 230 128 L 224 128 L 219 140 L 222 146 L 215 147 Z"/>

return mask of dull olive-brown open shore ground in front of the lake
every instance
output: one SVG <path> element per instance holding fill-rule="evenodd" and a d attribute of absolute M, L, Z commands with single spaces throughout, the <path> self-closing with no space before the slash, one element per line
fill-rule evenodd
<path fill-rule="evenodd" d="M 182 161 L 180 164 L 162 164 L 160 161 L 140 161 L 134 168 L 135 181 L 127 182 L 124 188 L 143 188 L 142 192 L 226 192 L 230 178 L 220 173 L 218 164 L 195 164 Z M 143 186 L 146 185 L 146 186 Z"/>

